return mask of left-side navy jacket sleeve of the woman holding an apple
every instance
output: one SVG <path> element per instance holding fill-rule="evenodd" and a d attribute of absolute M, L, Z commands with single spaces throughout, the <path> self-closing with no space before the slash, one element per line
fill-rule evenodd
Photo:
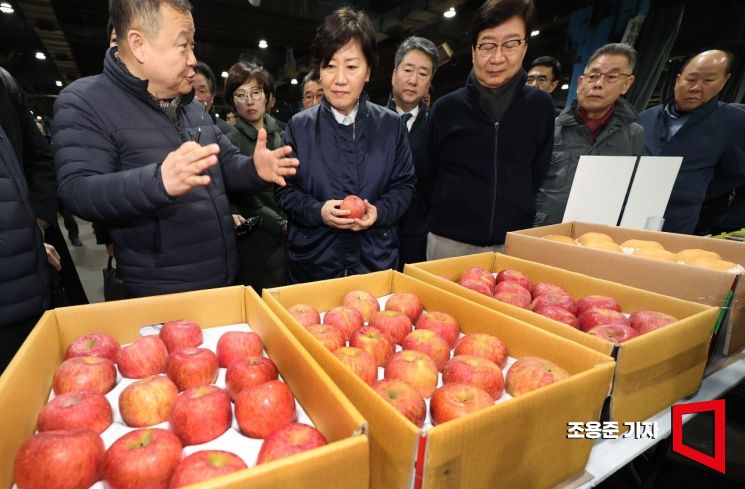
<path fill-rule="evenodd" d="M 291 156 L 297 158 L 297 144 L 295 143 L 292 119 L 290 119 L 285 130 L 284 144 L 292 147 Z M 278 187 L 274 198 L 277 201 L 277 205 L 287 213 L 290 221 L 294 221 L 304 227 L 312 228 L 323 225 L 321 207 L 323 207 L 324 203 L 319 202 L 299 187 L 299 182 L 302 181 L 306 171 L 308 171 L 308 168 L 303 166 L 301 160 L 295 176 L 285 178 L 287 185 Z"/>

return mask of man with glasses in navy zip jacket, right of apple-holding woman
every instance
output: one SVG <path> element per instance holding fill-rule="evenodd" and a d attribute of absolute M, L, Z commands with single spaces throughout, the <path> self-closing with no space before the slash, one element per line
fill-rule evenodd
<path fill-rule="evenodd" d="M 466 86 L 432 107 L 417 191 L 429 205 L 427 259 L 498 250 L 529 228 L 551 160 L 551 97 L 525 86 L 531 0 L 489 0 L 471 25 Z"/>

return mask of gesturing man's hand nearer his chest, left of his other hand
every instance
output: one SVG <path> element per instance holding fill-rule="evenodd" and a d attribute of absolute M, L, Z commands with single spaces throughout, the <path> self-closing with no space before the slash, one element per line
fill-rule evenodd
<path fill-rule="evenodd" d="M 194 187 L 209 185 L 209 175 L 202 172 L 217 164 L 220 147 L 216 144 L 200 146 L 188 141 L 168 153 L 160 166 L 163 186 L 171 197 L 177 197 Z"/>

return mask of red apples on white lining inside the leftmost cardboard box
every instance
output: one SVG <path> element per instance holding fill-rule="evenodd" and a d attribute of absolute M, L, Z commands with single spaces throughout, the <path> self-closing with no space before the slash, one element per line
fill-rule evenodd
<path fill-rule="evenodd" d="M 16 455 L 17 487 L 183 487 L 325 445 L 247 329 L 179 320 L 123 347 L 78 338 Z"/>

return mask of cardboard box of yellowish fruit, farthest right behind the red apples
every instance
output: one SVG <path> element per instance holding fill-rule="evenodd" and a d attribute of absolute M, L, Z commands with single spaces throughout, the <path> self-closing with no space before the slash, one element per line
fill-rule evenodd
<path fill-rule="evenodd" d="M 507 233 L 505 254 L 720 307 L 713 353 L 745 348 L 745 243 L 572 221 Z"/>

